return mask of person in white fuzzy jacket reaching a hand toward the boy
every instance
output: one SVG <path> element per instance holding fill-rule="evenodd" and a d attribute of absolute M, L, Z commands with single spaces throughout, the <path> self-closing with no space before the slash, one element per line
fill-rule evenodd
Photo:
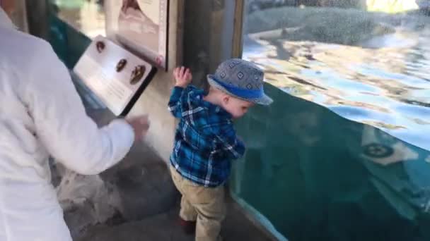
<path fill-rule="evenodd" d="M 0 8 L 0 240 L 70 241 L 48 156 L 98 174 L 148 128 L 140 116 L 99 129 L 50 44 L 18 32 Z"/>

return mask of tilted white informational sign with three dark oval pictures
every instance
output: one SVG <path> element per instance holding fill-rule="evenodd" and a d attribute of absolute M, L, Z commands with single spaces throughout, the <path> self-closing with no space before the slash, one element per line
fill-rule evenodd
<path fill-rule="evenodd" d="M 156 68 L 98 36 L 76 63 L 74 73 L 112 113 L 126 116 L 151 82 Z"/>

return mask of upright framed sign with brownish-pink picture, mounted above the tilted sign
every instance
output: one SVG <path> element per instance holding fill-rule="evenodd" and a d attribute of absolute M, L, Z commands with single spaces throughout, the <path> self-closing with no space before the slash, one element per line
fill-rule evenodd
<path fill-rule="evenodd" d="M 167 68 L 168 0 L 108 0 L 108 37 Z"/>

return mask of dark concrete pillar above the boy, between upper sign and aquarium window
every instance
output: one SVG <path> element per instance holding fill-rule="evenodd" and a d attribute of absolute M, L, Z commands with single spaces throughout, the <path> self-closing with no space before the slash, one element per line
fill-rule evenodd
<path fill-rule="evenodd" d="M 183 63 L 194 85 L 207 87 L 206 75 L 231 58 L 236 1 L 185 1 Z"/>

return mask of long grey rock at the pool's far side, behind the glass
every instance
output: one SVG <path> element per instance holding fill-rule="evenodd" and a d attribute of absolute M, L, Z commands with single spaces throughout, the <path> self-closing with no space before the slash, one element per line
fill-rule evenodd
<path fill-rule="evenodd" d="M 272 8 L 250 14 L 245 31 L 255 35 L 282 29 L 277 36 L 259 35 L 272 44 L 283 39 L 358 45 L 372 37 L 395 32 L 389 25 L 381 23 L 378 17 L 378 14 L 356 9 Z"/>

